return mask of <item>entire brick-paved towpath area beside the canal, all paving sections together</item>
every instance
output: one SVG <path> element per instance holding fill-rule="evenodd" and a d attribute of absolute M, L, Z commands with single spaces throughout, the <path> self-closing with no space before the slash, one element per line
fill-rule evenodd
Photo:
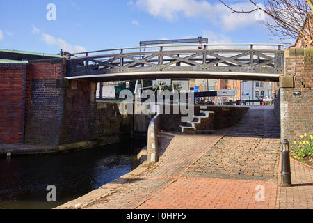
<path fill-rule="evenodd" d="M 313 208 L 312 168 L 291 162 L 294 187 L 280 187 L 273 109 L 250 109 L 234 128 L 216 134 L 159 137 L 161 162 L 141 165 L 59 208 Z"/>

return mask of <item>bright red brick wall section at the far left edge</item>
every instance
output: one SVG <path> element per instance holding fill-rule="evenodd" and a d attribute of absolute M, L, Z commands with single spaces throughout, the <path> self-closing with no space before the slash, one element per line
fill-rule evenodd
<path fill-rule="evenodd" d="M 26 64 L 0 64 L 0 144 L 22 143 Z"/>

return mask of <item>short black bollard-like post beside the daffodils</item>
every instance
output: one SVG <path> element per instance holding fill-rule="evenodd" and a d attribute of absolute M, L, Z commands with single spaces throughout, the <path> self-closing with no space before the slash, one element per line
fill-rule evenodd
<path fill-rule="evenodd" d="M 282 186 L 290 187 L 291 184 L 291 171 L 290 171 L 290 157 L 289 157 L 289 141 L 282 139 Z"/>

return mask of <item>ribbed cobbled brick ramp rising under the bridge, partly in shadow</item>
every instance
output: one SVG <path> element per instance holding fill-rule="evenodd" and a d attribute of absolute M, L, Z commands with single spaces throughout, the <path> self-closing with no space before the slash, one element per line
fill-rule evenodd
<path fill-rule="evenodd" d="M 280 128 L 273 110 L 250 109 L 184 176 L 275 181 Z"/>

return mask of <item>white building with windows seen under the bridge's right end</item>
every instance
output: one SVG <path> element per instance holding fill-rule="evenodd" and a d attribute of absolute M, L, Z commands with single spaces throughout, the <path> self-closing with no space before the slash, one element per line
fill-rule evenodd
<path fill-rule="evenodd" d="M 241 82 L 241 100 L 271 101 L 271 82 L 242 81 Z M 251 103 L 259 105 L 259 102 Z"/>

